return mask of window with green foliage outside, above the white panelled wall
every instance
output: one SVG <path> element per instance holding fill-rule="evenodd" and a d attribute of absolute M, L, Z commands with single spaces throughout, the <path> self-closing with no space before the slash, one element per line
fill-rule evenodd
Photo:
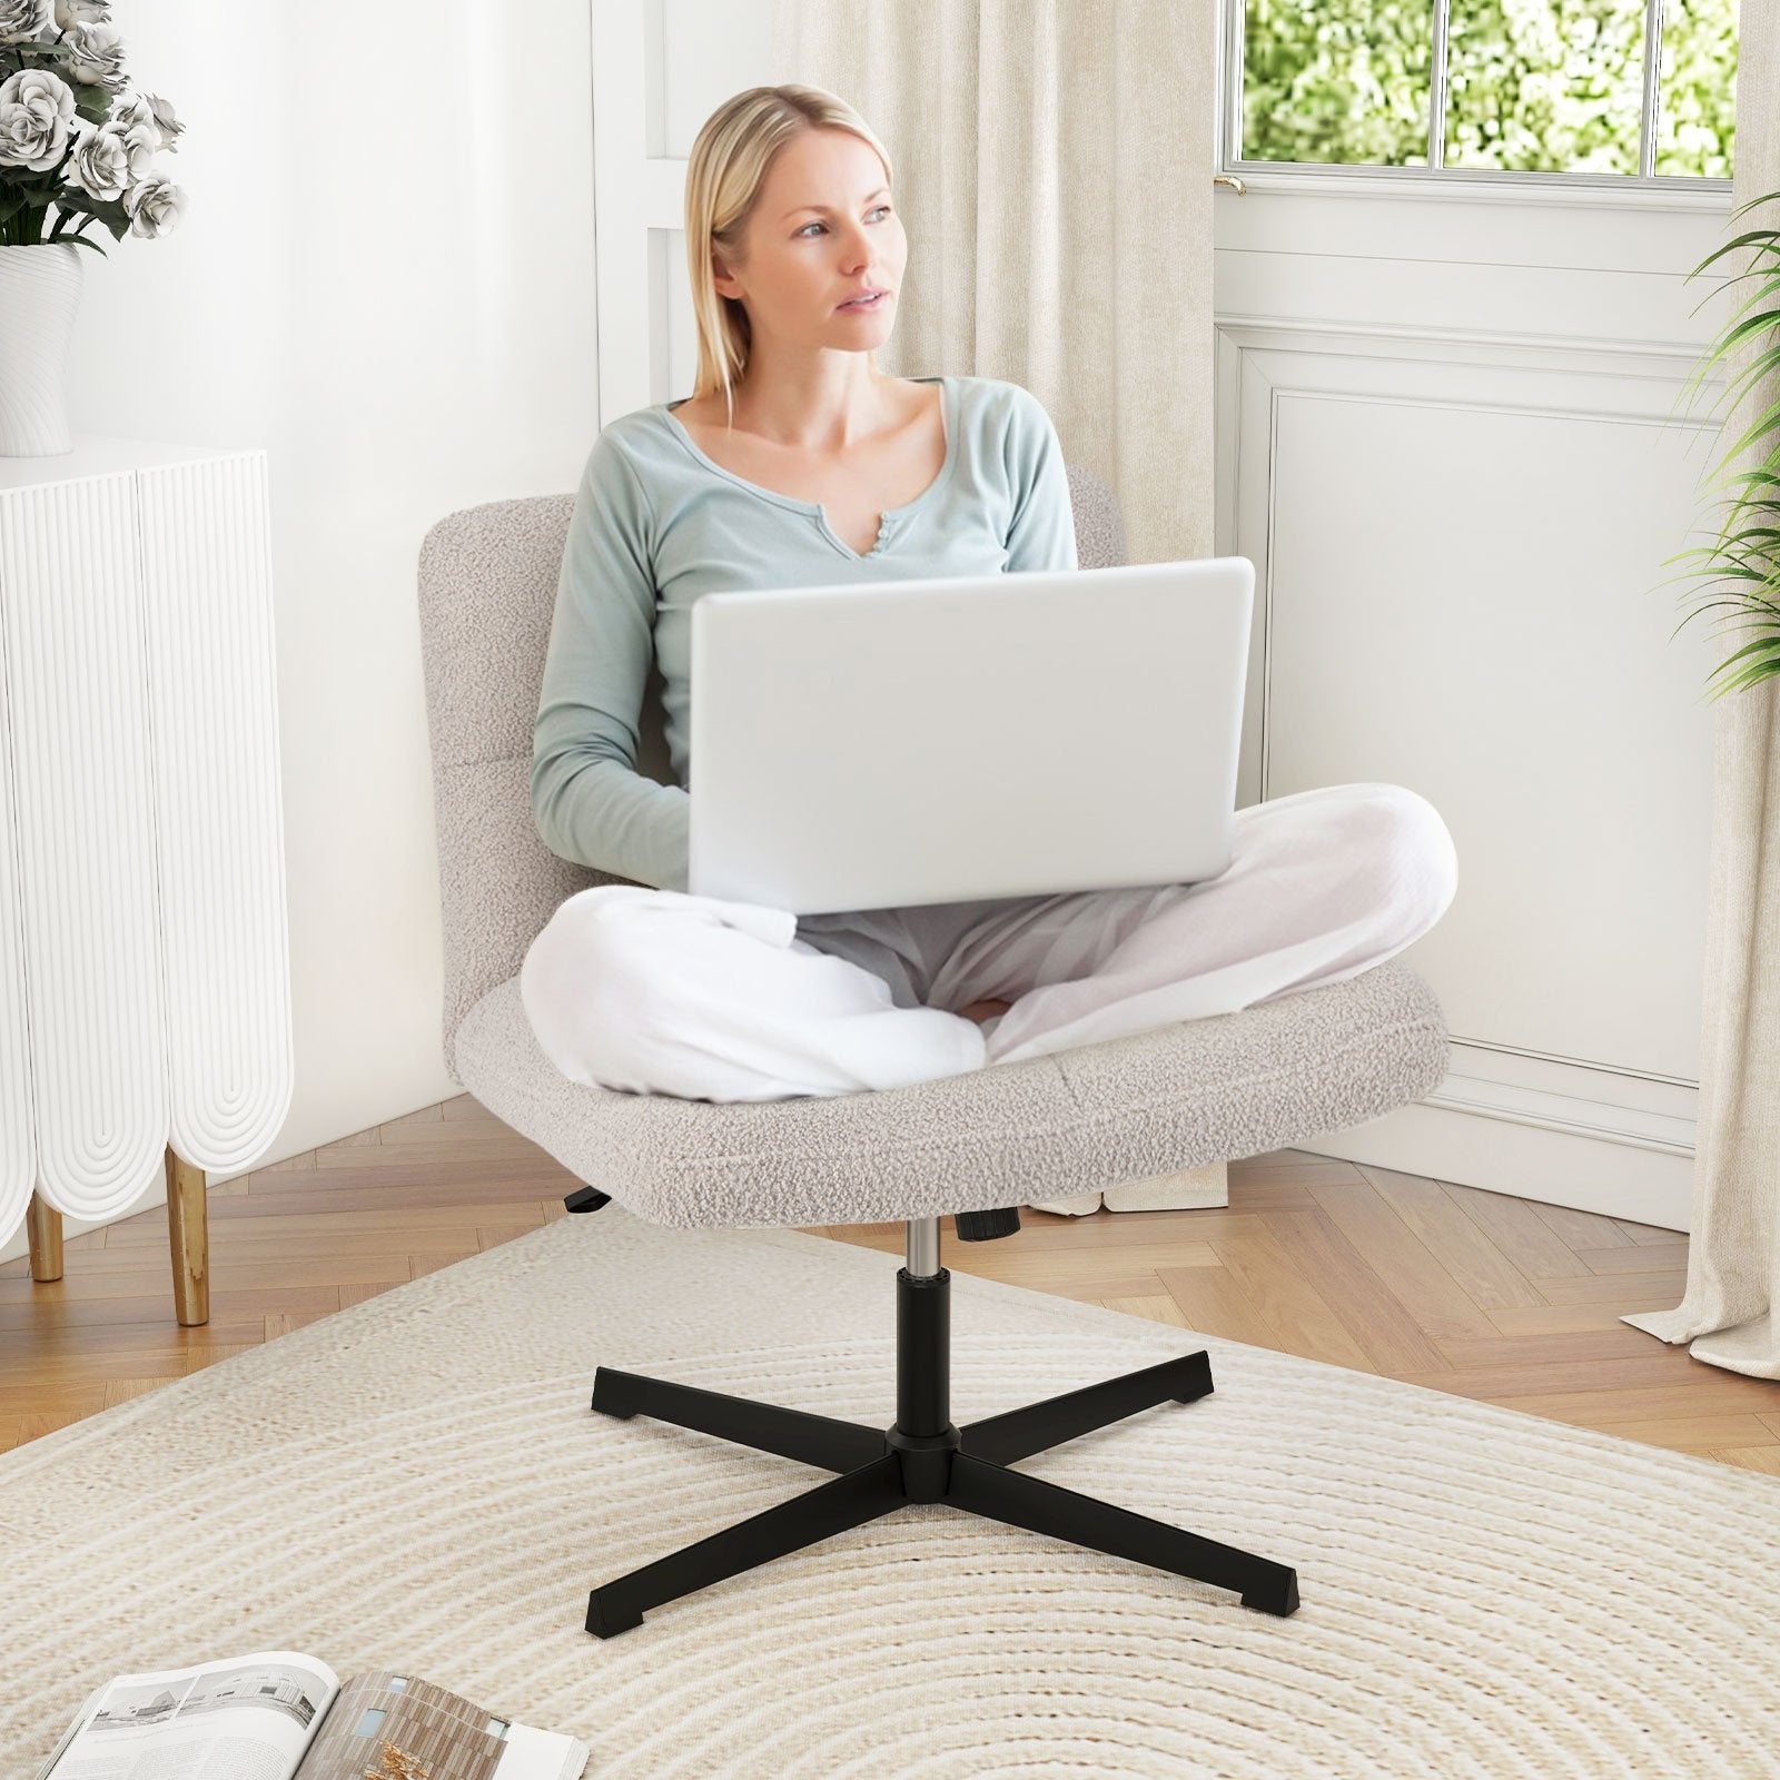
<path fill-rule="evenodd" d="M 1230 171 L 1730 182 L 1737 0 L 1230 5 Z"/>

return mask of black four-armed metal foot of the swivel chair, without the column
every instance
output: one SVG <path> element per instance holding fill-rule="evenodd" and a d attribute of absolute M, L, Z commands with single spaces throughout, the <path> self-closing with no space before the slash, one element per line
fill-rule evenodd
<path fill-rule="evenodd" d="M 634 1630 L 651 1607 L 803 1550 L 911 1501 L 947 1502 L 1006 1525 L 1235 1590 L 1244 1607 L 1260 1613 L 1296 1613 L 1298 1572 L 1287 1565 L 1009 1468 L 1095 1428 L 1162 1403 L 1191 1403 L 1210 1388 L 1210 1360 L 1200 1351 L 961 1429 L 945 1422 L 936 1433 L 911 1435 L 895 1424 L 867 1428 L 602 1365 L 595 1374 L 593 1408 L 603 1415 L 625 1420 L 650 1415 L 737 1445 L 797 1458 L 837 1476 L 593 1590 L 587 1630 L 595 1638 Z"/>

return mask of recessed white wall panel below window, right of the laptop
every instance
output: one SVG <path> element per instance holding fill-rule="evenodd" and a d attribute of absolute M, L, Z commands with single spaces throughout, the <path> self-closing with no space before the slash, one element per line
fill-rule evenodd
<path fill-rule="evenodd" d="M 1531 381 L 1276 393 L 1266 794 L 1387 778 L 1442 812 L 1460 892 L 1412 952 L 1454 1038 L 1687 1079 L 1705 659 L 1643 591 L 1687 525 L 1682 445 Z"/>

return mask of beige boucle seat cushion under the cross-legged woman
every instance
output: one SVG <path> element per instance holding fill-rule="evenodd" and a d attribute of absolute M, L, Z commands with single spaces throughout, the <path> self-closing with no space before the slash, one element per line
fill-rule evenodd
<path fill-rule="evenodd" d="M 1346 983 L 913 1088 L 710 1102 L 571 1082 L 520 981 L 465 1015 L 457 1080 L 659 1225 L 886 1223 L 1059 1200 L 1258 1155 L 1428 1093 L 1447 1032 L 1396 959 Z"/>

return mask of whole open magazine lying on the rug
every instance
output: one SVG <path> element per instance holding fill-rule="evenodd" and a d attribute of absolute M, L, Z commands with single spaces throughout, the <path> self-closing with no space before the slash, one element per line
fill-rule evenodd
<path fill-rule="evenodd" d="M 290 1650 L 117 1675 L 37 1780 L 580 1780 L 587 1744 L 417 1675 L 340 1680 Z"/>

